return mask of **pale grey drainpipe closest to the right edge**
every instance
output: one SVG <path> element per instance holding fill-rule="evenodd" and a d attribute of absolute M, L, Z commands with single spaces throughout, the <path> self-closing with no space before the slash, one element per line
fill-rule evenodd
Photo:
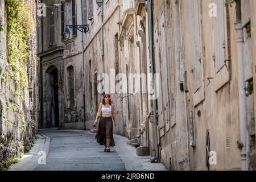
<path fill-rule="evenodd" d="M 238 3 L 241 3 L 240 1 Z M 237 57 L 238 57 L 238 86 L 239 86 L 239 108 L 240 108 L 240 140 L 243 144 L 241 151 L 242 171 L 247 171 L 247 136 L 246 136 L 246 96 L 245 96 L 245 69 L 243 67 L 243 27 L 241 22 L 241 6 L 237 3 Z M 241 5 L 241 4 L 240 4 Z"/>

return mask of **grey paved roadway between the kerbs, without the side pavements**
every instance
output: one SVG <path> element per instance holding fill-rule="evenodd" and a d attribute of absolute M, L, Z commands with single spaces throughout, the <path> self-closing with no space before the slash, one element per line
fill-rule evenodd
<path fill-rule="evenodd" d="M 35 170 L 125 170 L 122 159 L 114 148 L 105 153 L 98 145 L 93 134 L 77 134 L 65 131 L 40 131 L 51 138 L 46 165 Z"/>

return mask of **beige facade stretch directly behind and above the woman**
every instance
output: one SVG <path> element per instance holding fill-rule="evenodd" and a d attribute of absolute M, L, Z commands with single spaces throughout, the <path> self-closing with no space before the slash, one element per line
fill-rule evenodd
<path fill-rule="evenodd" d="M 102 101 L 102 93 L 110 93 L 110 89 L 115 88 L 115 81 L 110 81 L 107 77 L 110 79 L 110 75 L 121 72 L 121 59 L 118 46 L 119 1 L 104 1 L 101 7 L 97 6 L 96 1 L 88 1 L 89 4 L 92 5 L 88 6 L 84 13 L 85 18 L 87 17 L 86 23 L 90 27 L 88 34 L 85 35 L 84 52 L 85 93 L 86 98 L 88 98 L 88 102 L 86 102 L 86 127 L 90 129 L 96 118 L 98 105 Z M 93 13 L 89 14 L 88 12 Z M 106 76 L 102 77 L 102 73 Z M 125 135 L 122 98 L 119 94 L 112 94 L 111 96 L 119 123 L 114 132 Z"/>

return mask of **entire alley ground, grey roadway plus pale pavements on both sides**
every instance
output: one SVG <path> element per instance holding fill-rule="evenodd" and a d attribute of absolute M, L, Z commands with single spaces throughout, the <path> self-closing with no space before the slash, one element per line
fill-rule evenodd
<path fill-rule="evenodd" d="M 35 146 L 11 171 L 167 171 L 163 164 L 151 163 L 150 156 L 137 156 L 127 138 L 119 135 L 114 135 L 116 146 L 108 153 L 89 131 L 46 129 L 38 135 Z M 42 151 L 48 155 L 40 165 Z"/>

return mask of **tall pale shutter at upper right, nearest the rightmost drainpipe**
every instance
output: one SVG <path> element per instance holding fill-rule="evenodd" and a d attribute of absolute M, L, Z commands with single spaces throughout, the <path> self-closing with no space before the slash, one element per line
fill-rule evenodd
<path fill-rule="evenodd" d="M 225 15 L 222 0 L 215 0 L 217 4 L 217 16 L 214 17 L 214 49 L 215 49 L 215 72 L 219 72 L 225 65 Z"/>

